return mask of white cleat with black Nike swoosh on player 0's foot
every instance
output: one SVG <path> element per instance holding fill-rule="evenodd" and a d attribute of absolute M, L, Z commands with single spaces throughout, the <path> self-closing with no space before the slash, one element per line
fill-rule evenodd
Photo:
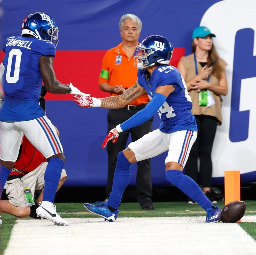
<path fill-rule="evenodd" d="M 57 212 L 55 204 L 52 207 L 43 206 L 39 203 L 40 206 L 36 209 L 38 217 L 46 218 L 54 222 L 58 226 L 68 226 L 69 223 L 65 221 Z"/>

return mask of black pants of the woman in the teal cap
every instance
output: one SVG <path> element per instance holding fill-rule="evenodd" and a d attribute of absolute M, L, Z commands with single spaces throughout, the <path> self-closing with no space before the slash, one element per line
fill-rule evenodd
<path fill-rule="evenodd" d="M 195 182 L 198 179 L 197 159 L 200 159 L 199 175 L 203 188 L 211 187 L 212 162 L 211 150 L 218 120 L 207 115 L 195 115 L 198 128 L 197 138 L 192 146 L 185 173 Z"/>

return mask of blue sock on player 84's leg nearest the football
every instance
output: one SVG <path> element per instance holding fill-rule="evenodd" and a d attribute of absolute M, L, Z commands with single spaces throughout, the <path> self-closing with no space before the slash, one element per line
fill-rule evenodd
<path fill-rule="evenodd" d="M 200 204 L 204 210 L 213 206 L 198 184 L 189 176 L 184 175 L 181 171 L 168 170 L 165 172 L 165 178 L 171 184 L 188 195 L 191 199 Z"/>

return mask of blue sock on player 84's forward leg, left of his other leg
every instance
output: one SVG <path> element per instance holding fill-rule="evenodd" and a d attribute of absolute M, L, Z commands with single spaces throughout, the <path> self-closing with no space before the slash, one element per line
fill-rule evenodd
<path fill-rule="evenodd" d="M 117 155 L 116 170 L 114 174 L 113 187 L 108 199 L 108 205 L 117 209 L 123 192 L 131 179 L 131 163 L 124 156 L 123 152 Z"/>

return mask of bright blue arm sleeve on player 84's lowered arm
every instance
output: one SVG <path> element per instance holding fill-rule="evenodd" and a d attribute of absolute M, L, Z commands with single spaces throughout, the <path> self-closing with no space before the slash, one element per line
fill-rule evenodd
<path fill-rule="evenodd" d="M 129 128 L 139 126 L 149 120 L 155 114 L 155 112 L 157 112 L 157 110 L 163 105 L 165 100 L 165 95 L 156 93 L 144 109 L 140 110 L 120 125 L 122 130 L 127 130 Z"/>

